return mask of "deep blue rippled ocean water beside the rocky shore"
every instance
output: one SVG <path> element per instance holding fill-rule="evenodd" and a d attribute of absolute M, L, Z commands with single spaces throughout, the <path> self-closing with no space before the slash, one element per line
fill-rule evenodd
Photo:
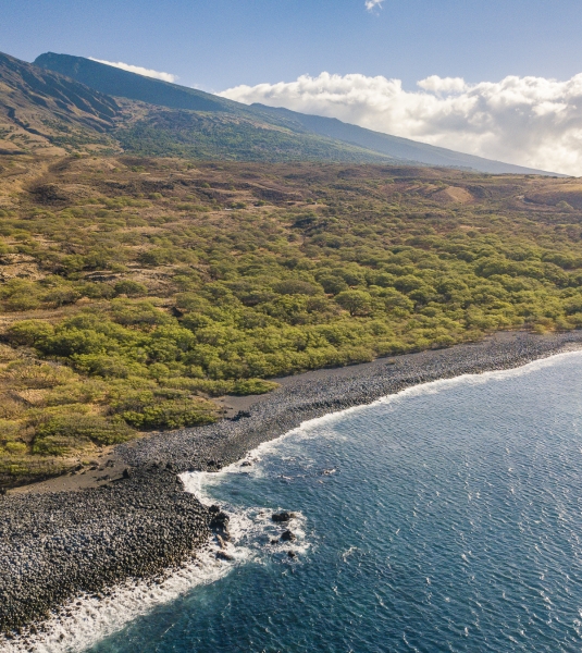
<path fill-rule="evenodd" d="M 312 422 L 202 479 L 240 562 L 91 651 L 580 651 L 581 424 L 580 354 Z"/>

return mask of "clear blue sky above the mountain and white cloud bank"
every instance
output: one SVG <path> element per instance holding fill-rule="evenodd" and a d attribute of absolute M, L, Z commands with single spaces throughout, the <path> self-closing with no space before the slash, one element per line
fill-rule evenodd
<path fill-rule="evenodd" d="M 582 71 L 580 0 L 2 0 L 0 50 L 124 61 L 224 89 L 304 73 L 496 81 Z"/>

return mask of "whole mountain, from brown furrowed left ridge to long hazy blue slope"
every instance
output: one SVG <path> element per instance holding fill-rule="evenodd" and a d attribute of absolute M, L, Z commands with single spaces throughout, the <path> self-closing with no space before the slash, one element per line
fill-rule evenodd
<path fill-rule="evenodd" d="M 0 151 L 38 147 L 238 161 L 344 161 L 553 174 L 47 52 L 0 54 Z"/>

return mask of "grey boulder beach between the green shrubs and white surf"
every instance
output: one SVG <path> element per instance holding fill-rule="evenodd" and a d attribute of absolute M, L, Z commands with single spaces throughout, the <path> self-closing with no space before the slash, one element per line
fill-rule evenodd
<path fill-rule="evenodd" d="M 102 475 L 100 486 L 0 496 L 0 631 L 34 631 L 77 594 L 154 577 L 208 542 L 213 515 L 184 492 L 181 472 L 219 470 L 306 420 L 419 383 L 579 348 L 581 331 L 499 333 L 482 343 L 281 379 L 269 395 L 230 397 L 239 408 L 231 419 L 119 446 L 110 464 L 126 471 Z"/>

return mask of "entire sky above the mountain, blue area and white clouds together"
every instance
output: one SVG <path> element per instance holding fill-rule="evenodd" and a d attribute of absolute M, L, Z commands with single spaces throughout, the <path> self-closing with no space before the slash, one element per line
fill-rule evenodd
<path fill-rule="evenodd" d="M 90 57 L 239 101 L 582 175 L 580 0 L 0 5 L 0 50 L 26 61 L 46 51 Z"/>

